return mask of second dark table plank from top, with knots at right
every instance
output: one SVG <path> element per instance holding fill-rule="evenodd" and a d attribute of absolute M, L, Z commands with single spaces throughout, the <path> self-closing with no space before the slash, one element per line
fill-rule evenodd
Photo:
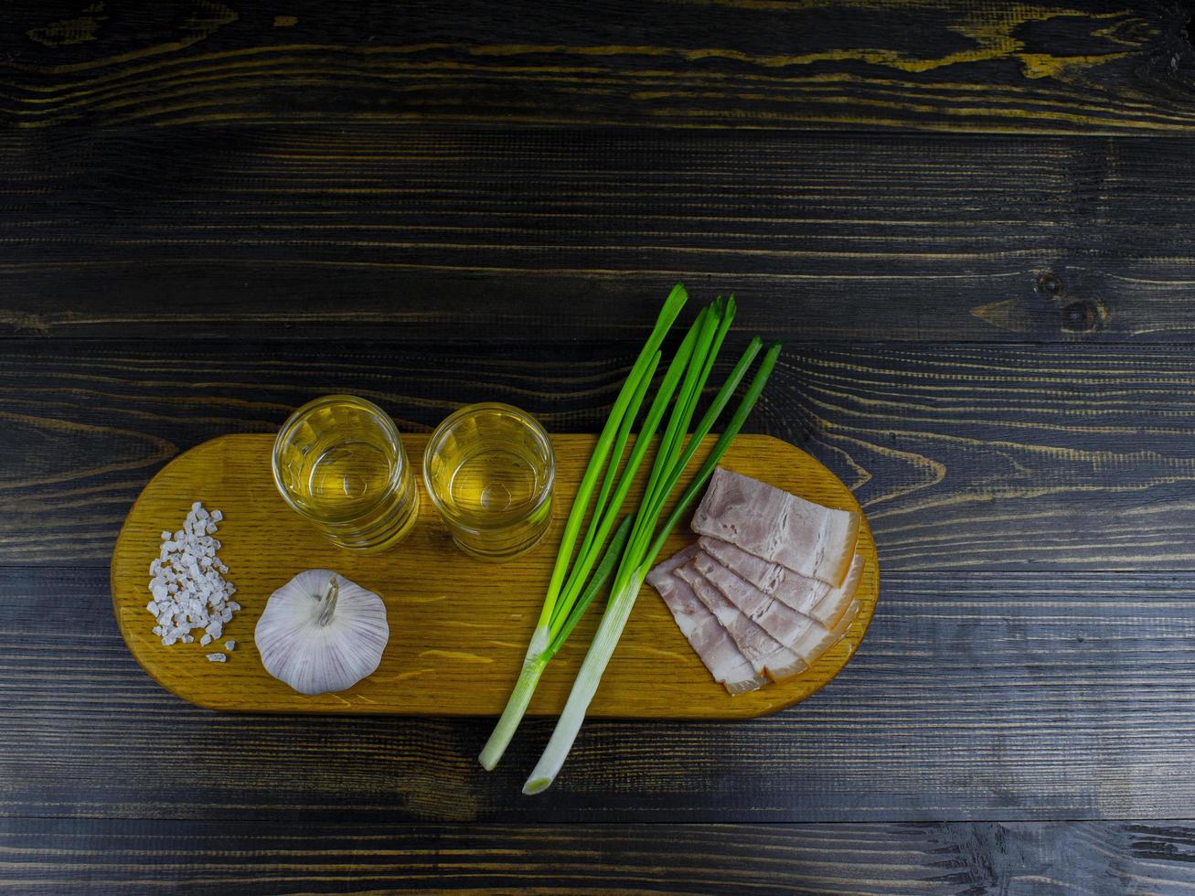
<path fill-rule="evenodd" d="M 0 131 L 0 333 L 1190 342 L 1195 139 Z"/>

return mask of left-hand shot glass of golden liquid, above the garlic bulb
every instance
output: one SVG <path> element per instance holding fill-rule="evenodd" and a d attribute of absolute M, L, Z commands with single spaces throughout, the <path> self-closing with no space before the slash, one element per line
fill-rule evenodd
<path fill-rule="evenodd" d="M 394 421 L 355 395 L 317 398 L 274 440 L 274 481 L 333 545 L 381 551 L 413 526 L 419 491 Z"/>

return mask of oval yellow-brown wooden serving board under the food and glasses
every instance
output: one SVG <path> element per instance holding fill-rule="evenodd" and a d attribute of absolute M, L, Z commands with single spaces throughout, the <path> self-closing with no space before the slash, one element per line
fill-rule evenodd
<path fill-rule="evenodd" d="M 595 437 L 552 436 L 557 461 L 552 528 L 535 550 L 504 565 L 482 563 L 455 550 L 422 483 L 418 522 L 397 547 L 378 554 L 333 547 L 287 508 L 275 490 L 272 441 L 270 435 L 231 435 L 192 448 L 167 464 L 129 511 L 112 554 L 112 603 L 121 634 L 142 668 L 167 691 L 213 710 L 500 713 L 539 615 L 564 517 Z M 409 435 L 404 441 L 418 462 L 427 436 Z M 739 436 L 723 466 L 828 507 L 859 509 L 850 490 L 826 467 L 771 436 Z M 195 501 L 223 511 L 220 558 L 228 565 L 227 578 L 237 585 L 235 600 L 243 607 L 225 627 L 223 639 L 235 639 L 237 648 L 223 664 L 206 658 L 217 645 L 163 646 L 146 610 L 149 561 L 158 556 L 161 532 L 177 529 Z M 627 507 L 635 505 L 632 495 Z M 687 527 L 678 529 L 661 557 L 693 539 Z M 846 638 L 802 675 L 734 698 L 710 677 L 663 601 L 644 585 L 590 714 L 750 718 L 809 696 L 846 664 L 871 621 L 880 571 L 866 521 L 859 530 L 859 550 L 868 561 L 858 593 L 862 610 Z M 305 696 L 265 673 L 253 645 L 253 627 L 275 589 L 296 572 L 318 566 L 382 596 L 390 613 L 390 643 L 378 671 L 356 687 Z M 564 706 L 596 627 L 596 609 L 549 665 L 531 704 L 532 714 L 556 714 Z"/>

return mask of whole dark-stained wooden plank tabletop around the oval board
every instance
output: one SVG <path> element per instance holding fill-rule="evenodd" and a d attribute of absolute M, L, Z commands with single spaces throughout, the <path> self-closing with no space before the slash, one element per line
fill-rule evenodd
<path fill-rule="evenodd" d="M 0 11 L 0 884 L 1195 886 L 1190 4 Z M 117 634 L 148 478 L 332 391 L 595 430 L 667 289 L 883 591 L 823 692 L 589 723 L 186 705 Z M 663 673 L 662 673 L 663 674 Z"/>

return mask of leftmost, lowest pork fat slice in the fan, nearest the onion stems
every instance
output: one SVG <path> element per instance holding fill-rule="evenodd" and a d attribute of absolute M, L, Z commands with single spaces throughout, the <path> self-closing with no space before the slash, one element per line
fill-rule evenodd
<path fill-rule="evenodd" d="M 698 600 L 692 587 L 678 578 L 674 570 L 693 559 L 697 546 L 656 565 L 648 573 L 648 584 L 660 593 L 681 633 L 705 663 L 713 680 L 731 694 L 744 694 L 761 687 L 766 679 L 755 671 L 717 616 Z"/>

